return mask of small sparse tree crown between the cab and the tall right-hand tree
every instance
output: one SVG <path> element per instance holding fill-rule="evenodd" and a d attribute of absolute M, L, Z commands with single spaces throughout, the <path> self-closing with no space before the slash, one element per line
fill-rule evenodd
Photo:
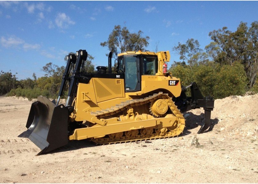
<path fill-rule="evenodd" d="M 175 46 L 173 51 L 178 52 L 180 59 L 188 63 L 192 68 L 194 65 L 204 64 L 209 61 L 207 54 L 199 47 L 198 40 L 191 38 L 186 41 L 186 44 L 178 42 L 178 46 Z"/>

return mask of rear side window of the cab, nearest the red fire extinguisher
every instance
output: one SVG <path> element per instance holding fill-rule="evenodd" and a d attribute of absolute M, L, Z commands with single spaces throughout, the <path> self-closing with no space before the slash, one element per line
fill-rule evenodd
<path fill-rule="evenodd" d="M 143 75 L 156 75 L 158 72 L 158 58 L 143 57 Z"/>

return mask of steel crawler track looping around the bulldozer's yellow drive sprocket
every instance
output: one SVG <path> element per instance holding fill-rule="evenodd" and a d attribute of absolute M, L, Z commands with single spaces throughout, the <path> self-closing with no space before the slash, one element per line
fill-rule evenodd
<path fill-rule="evenodd" d="M 174 122 L 172 127 L 163 127 L 156 128 L 150 127 L 146 129 L 137 129 L 127 132 L 118 132 L 113 135 L 106 135 L 103 138 L 92 138 L 91 140 L 96 144 L 111 144 L 111 143 L 125 143 L 125 142 L 133 142 L 133 141 L 142 141 L 142 140 L 152 140 L 152 139 L 161 139 L 161 138 L 169 138 L 178 136 L 182 133 L 185 126 L 185 119 L 177 109 L 177 106 L 174 105 L 172 99 L 168 96 L 168 94 L 163 94 L 159 92 L 158 94 L 153 94 L 152 96 L 146 97 L 144 99 L 132 99 L 126 102 L 122 102 L 119 105 L 115 105 L 109 109 L 104 109 L 102 111 L 93 112 L 92 114 L 98 118 L 108 118 L 112 117 L 115 114 L 118 114 L 127 108 L 135 107 L 139 105 L 150 105 L 151 102 L 154 102 L 157 99 L 164 99 L 164 102 L 168 105 L 168 111 L 166 114 L 172 114 L 177 118 L 177 121 Z M 152 112 L 150 107 L 149 114 L 153 115 L 153 117 L 157 117 L 155 113 Z M 165 114 L 165 115 L 166 115 Z M 159 117 L 162 121 L 162 117 Z"/>

